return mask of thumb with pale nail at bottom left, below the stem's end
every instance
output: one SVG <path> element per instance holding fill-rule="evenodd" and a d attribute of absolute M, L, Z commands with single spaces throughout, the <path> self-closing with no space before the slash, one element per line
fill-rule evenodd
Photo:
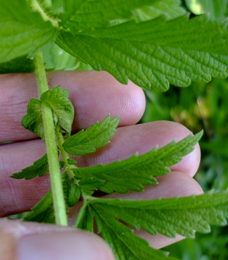
<path fill-rule="evenodd" d="M 79 229 L 0 220 L 0 259 L 114 260 L 100 237 Z"/>

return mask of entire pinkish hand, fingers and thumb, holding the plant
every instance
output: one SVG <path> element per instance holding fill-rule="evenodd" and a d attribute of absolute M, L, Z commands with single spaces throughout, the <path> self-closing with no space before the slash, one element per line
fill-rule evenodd
<path fill-rule="evenodd" d="M 168 121 L 155 121 L 135 125 L 145 108 L 141 88 L 132 82 L 122 85 L 106 72 L 65 71 L 47 73 L 51 88 L 61 85 L 70 90 L 70 100 L 75 107 L 73 133 L 88 128 L 108 113 L 120 116 L 120 124 L 111 142 L 88 156 L 74 158 L 78 166 L 91 166 L 125 159 L 162 147 L 174 139 L 177 141 L 190 132 L 184 126 Z M 16 180 L 9 177 L 14 172 L 31 165 L 45 154 L 45 144 L 35 134 L 21 126 L 31 98 L 38 98 L 36 77 L 32 73 L 0 75 L 0 216 L 5 217 L 28 211 L 38 203 L 50 187 L 49 176 L 32 180 Z M 184 156 L 181 162 L 171 166 L 171 172 L 158 177 L 159 184 L 145 187 L 141 193 L 111 194 L 106 198 L 149 200 L 201 194 L 202 189 L 192 178 L 200 161 L 199 145 Z M 79 206 L 69 211 L 69 224 L 73 224 Z M 135 233 L 154 248 L 162 248 L 183 239 L 161 234 L 151 236 L 139 230 Z M 89 246 L 88 246 L 89 245 Z M 42 250 L 41 250 L 42 249 Z M 109 246 L 99 236 L 71 227 L 26 223 L 6 218 L 0 219 L 0 259 L 4 260 L 114 260 Z"/>

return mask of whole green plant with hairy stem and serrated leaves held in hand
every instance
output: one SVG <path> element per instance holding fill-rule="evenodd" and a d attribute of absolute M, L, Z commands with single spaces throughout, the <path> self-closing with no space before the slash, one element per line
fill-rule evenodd
<path fill-rule="evenodd" d="M 141 156 L 78 167 L 69 155 L 88 155 L 108 144 L 119 118 L 107 115 L 102 122 L 70 136 L 74 107 L 68 100 L 69 91 L 61 86 L 48 89 L 43 52 L 55 43 L 121 83 L 130 79 L 145 89 L 167 91 L 169 84 L 186 87 L 191 81 L 206 83 L 212 76 L 227 77 L 227 21 L 212 21 L 205 15 L 189 19 L 179 0 L 55 2 L 63 6 L 48 12 L 37 0 L 0 2 L 0 72 L 36 72 L 40 99 L 30 100 L 22 125 L 46 143 L 44 156 L 11 177 L 29 180 L 49 172 L 51 180 L 51 189 L 24 220 L 66 226 L 68 208 L 82 198 L 74 226 L 93 232 L 95 220 L 116 259 L 172 259 L 149 247 L 131 227 L 168 237 L 176 233 L 194 237 L 195 230 L 209 232 L 210 224 L 227 224 L 228 190 L 146 201 L 92 195 L 96 190 L 140 192 L 143 185 L 157 184 L 154 176 L 167 174 L 169 166 L 190 153 L 202 132 Z M 165 10 L 159 9 L 161 2 Z"/>

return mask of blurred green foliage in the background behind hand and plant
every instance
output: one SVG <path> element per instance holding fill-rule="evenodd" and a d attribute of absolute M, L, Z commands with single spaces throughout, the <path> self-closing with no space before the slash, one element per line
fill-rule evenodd
<path fill-rule="evenodd" d="M 61 0 L 44 0 L 47 11 L 61 6 Z M 190 13 L 190 17 L 210 13 L 212 20 L 228 15 L 228 0 L 159 0 L 134 12 L 138 21 L 166 15 L 167 19 Z M 46 70 L 89 70 L 56 45 L 45 52 Z M 204 191 L 228 187 L 228 79 L 212 79 L 208 84 L 192 83 L 187 88 L 170 86 L 165 92 L 146 90 L 146 110 L 139 123 L 171 120 L 193 133 L 204 130 L 200 140 L 201 164 L 195 179 Z M 22 215 L 12 216 L 13 218 Z M 212 226 L 209 234 L 196 233 L 165 248 L 170 256 L 181 260 L 228 260 L 228 227 Z"/>

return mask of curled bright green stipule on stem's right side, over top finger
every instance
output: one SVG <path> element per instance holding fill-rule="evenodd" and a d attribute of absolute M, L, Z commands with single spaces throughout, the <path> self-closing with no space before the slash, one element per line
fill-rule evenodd
<path fill-rule="evenodd" d="M 57 123 L 66 130 L 66 137 L 71 133 L 74 119 L 74 106 L 68 100 L 69 90 L 62 90 L 59 85 L 41 95 L 41 101 L 50 105 L 53 113 L 57 115 Z"/>

